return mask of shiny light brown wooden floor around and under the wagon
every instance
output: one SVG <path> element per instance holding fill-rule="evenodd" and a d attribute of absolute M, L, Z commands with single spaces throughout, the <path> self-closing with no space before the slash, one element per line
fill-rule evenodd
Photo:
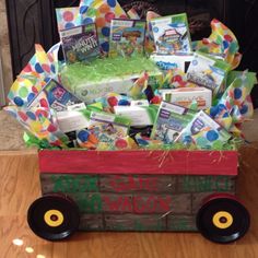
<path fill-rule="evenodd" d="M 250 212 L 251 227 L 238 242 L 216 245 L 199 233 L 77 233 L 60 243 L 43 241 L 26 223 L 28 206 L 40 196 L 37 155 L 0 153 L 0 257 L 38 254 L 46 258 L 258 257 L 258 174 L 251 164 L 255 156 L 251 160 L 250 154 L 246 155 L 248 164 L 242 164 L 237 192 Z M 14 238 L 23 239 L 24 244 L 13 245 Z M 27 254 L 25 247 L 34 248 L 34 253 Z"/>

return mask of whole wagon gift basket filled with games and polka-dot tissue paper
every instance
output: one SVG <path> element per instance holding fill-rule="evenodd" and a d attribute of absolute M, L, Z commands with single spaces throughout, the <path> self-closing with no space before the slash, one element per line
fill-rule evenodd
<path fill-rule="evenodd" d="M 244 236 L 237 148 L 256 74 L 235 70 L 233 32 L 214 19 L 191 42 L 186 13 L 143 21 L 116 0 L 56 13 L 60 43 L 35 45 L 5 107 L 38 148 L 32 231 L 48 241 L 78 230 Z"/>

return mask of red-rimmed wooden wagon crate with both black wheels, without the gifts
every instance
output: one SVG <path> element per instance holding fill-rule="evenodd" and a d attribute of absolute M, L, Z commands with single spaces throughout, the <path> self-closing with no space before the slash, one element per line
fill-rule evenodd
<path fill-rule="evenodd" d="M 236 151 L 42 150 L 43 197 L 30 207 L 28 224 L 50 241 L 77 230 L 199 230 L 211 241 L 232 242 L 246 233 L 249 222 L 234 197 L 237 155 Z M 237 237 L 235 224 L 241 227 Z"/>

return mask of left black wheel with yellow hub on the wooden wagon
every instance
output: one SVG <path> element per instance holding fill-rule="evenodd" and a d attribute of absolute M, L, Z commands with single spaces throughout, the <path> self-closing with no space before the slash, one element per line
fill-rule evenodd
<path fill-rule="evenodd" d="M 79 208 L 66 196 L 43 196 L 28 208 L 27 223 L 37 236 L 47 241 L 61 241 L 78 230 Z"/>

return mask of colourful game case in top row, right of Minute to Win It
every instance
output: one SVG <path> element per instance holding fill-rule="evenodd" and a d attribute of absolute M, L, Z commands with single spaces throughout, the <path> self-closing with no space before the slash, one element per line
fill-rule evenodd
<path fill-rule="evenodd" d="M 145 21 L 113 19 L 109 57 L 133 57 L 144 54 Z"/>

